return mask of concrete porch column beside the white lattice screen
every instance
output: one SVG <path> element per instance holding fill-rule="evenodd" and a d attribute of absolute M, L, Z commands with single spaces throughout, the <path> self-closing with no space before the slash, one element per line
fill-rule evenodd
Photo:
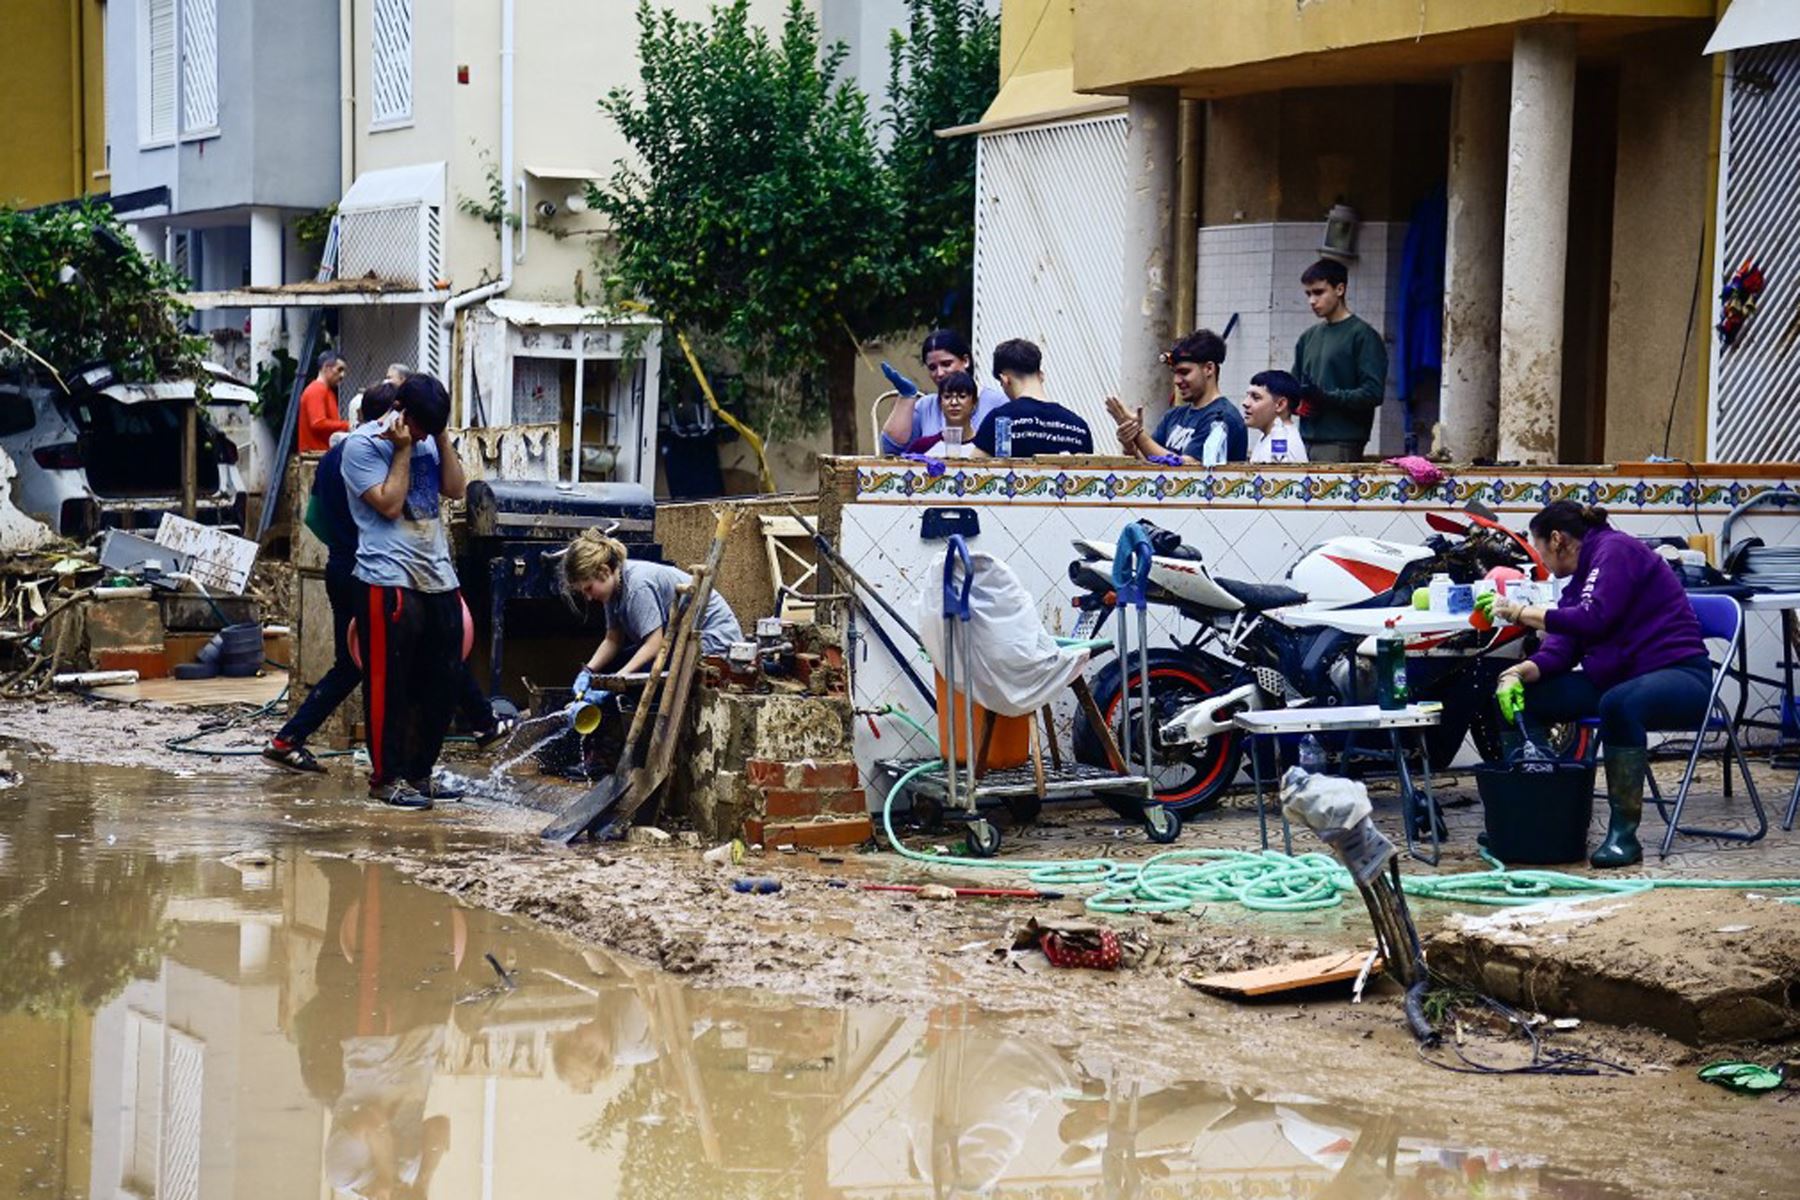
<path fill-rule="evenodd" d="M 1154 419 L 1168 407 L 1168 371 L 1157 354 L 1174 338 L 1181 94 L 1134 88 L 1129 119 L 1120 399 L 1127 408 L 1143 405 L 1145 419 Z"/>

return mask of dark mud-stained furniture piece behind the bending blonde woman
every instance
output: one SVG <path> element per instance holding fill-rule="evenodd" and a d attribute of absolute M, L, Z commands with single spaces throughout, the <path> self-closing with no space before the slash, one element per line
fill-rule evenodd
<path fill-rule="evenodd" d="M 488 583 L 488 691 L 499 694 L 506 655 L 506 606 L 563 596 L 562 552 L 583 529 L 617 538 L 630 556 L 662 561 L 657 506 L 639 484 L 540 484 L 477 479 L 468 486 L 463 578 Z M 481 569 L 486 563 L 486 569 Z"/>

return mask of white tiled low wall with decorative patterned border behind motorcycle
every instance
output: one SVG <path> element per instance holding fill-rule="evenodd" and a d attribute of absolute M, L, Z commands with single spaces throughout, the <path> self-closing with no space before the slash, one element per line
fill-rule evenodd
<path fill-rule="evenodd" d="M 1615 524 L 1642 536 L 1685 536 L 1696 529 L 1719 533 L 1732 507 L 1764 489 L 1795 491 L 1800 480 L 1732 477 L 1667 479 L 1595 473 L 1503 475 L 1467 471 L 1431 489 L 1413 488 L 1391 470 L 1310 471 L 1161 471 L 1156 468 L 1067 468 L 963 464 L 931 479 L 909 464 L 866 462 L 857 470 L 855 495 L 842 509 L 841 551 L 902 613 L 920 601 L 938 603 L 943 543 L 920 536 L 925 509 L 974 507 L 981 533 L 972 549 L 1008 563 L 1037 597 L 1044 628 L 1073 631 L 1075 587 L 1067 565 L 1075 538 L 1112 540 L 1139 516 L 1177 531 L 1197 547 L 1215 576 L 1258 583 L 1280 581 L 1289 567 L 1319 542 L 1343 534 L 1420 542 L 1429 533 L 1426 513 L 1451 511 L 1481 500 L 1516 529 L 1543 504 L 1557 498 L 1604 504 Z M 1769 545 L 1800 545 L 1795 509 L 1746 516 L 1735 538 L 1760 536 Z M 1152 646 L 1168 644 L 1177 619 L 1152 608 Z M 889 626 L 905 648 L 905 635 Z M 907 648 L 909 649 L 909 648 Z M 1750 617 L 1751 666 L 1773 667 L 1778 635 L 1773 617 Z M 929 664 L 918 662 L 931 680 Z M 896 703 L 927 716 L 916 691 L 887 651 L 868 637 L 853 648 L 851 687 L 857 707 Z M 1773 700 L 1753 694 L 1753 707 Z M 1073 705 L 1058 709 L 1064 745 Z M 931 754 L 931 747 L 882 727 L 875 739 L 866 723 L 857 730 L 857 757 Z M 877 797 L 878 799 L 878 797 Z"/>

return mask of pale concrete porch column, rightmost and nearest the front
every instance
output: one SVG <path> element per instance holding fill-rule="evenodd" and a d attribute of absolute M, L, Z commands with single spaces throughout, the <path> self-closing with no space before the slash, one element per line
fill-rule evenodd
<path fill-rule="evenodd" d="M 1575 27 L 1521 25 L 1499 300 L 1499 457 L 1519 462 L 1557 459 L 1573 119 Z"/>

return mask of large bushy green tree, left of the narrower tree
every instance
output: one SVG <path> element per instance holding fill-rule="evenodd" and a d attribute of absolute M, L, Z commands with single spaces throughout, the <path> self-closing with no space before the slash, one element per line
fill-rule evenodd
<path fill-rule="evenodd" d="M 643 0 L 637 27 L 643 95 L 599 104 L 637 160 L 589 191 L 617 239 L 610 299 L 643 297 L 733 358 L 776 435 L 814 428 L 833 342 L 891 286 L 896 203 L 868 99 L 801 0 L 774 38 L 747 0 L 709 23 Z"/>

